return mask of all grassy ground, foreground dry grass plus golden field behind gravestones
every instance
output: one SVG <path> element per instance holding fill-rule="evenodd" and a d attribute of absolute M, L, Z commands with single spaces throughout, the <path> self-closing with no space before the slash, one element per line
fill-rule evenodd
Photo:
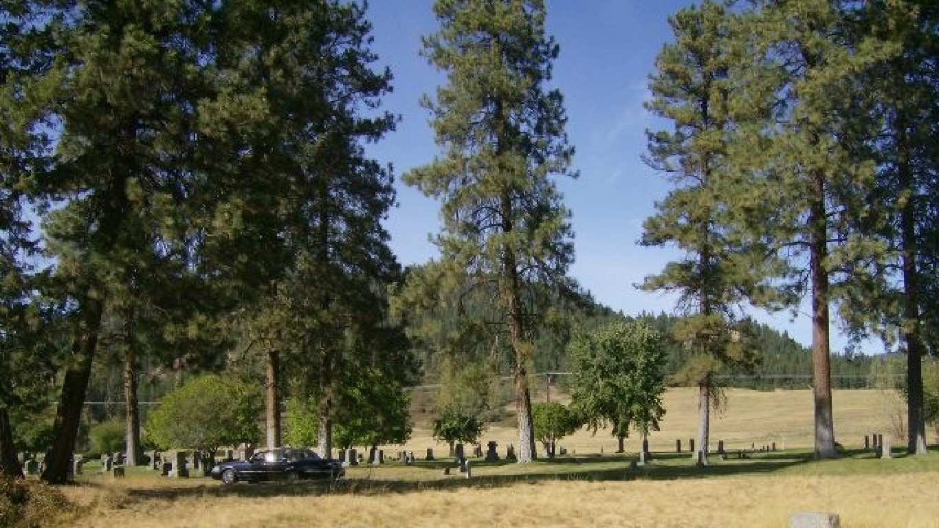
<path fill-rule="evenodd" d="M 472 460 L 472 477 L 443 468 L 451 462 L 423 461 L 434 443 L 418 427 L 407 446 L 419 460 L 402 466 L 349 468 L 328 483 L 236 484 L 207 478 L 169 480 L 143 468 L 115 480 L 88 472 L 62 491 L 79 505 L 50 525 L 116 528 L 193 527 L 468 527 L 499 526 L 721 526 L 784 527 L 797 511 L 837 512 L 843 528 L 939 528 L 939 452 L 874 458 L 861 449 L 865 433 L 889 434 L 890 398 L 877 391 L 837 391 L 835 430 L 845 452 L 838 460 L 814 461 L 810 452 L 811 396 L 808 391 L 732 390 L 726 411 L 716 416 L 712 438 L 729 448 L 776 442 L 784 451 L 754 453 L 745 460 L 720 460 L 698 469 L 686 453 L 674 453 L 694 436 L 692 391 L 671 390 L 668 415 L 654 433 L 654 460 L 629 469 L 630 454 L 611 453 L 608 433 L 581 431 L 562 444 L 576 456 L 531 464 Z M 419 417 L 418 426 L 422 426 Z M 516 442 L 505 424 L 484 441 Z M 933 439 L 930 439 L 931 442 Z M 785 445 L 783 445 L 785 443 Z M 635 449 L 630 439 L 627 450 Z M 601 447 L 604 455 L 599 455 Z M 808 447 L 808 449 L 807 449 Z"/>

